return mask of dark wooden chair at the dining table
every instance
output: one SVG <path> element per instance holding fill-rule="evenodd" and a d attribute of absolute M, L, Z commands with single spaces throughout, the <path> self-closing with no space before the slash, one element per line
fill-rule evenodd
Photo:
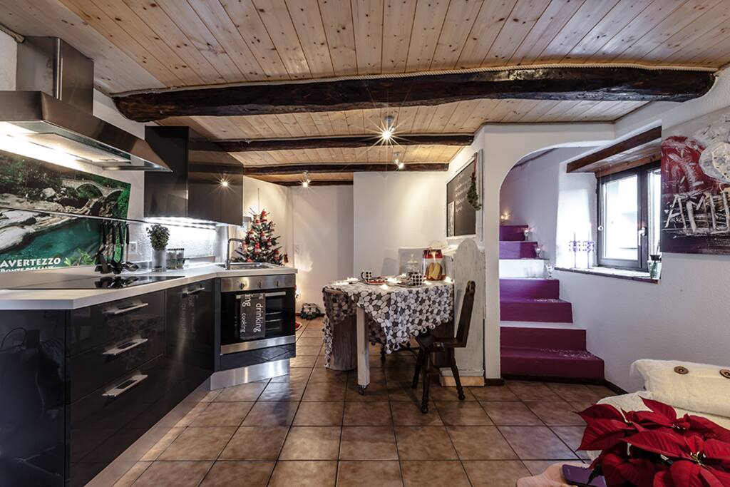
<path fill-rule="evenodd" d="M 420 403 L 420 412 L 429 412 L 429 385 L 431 383 L 431 370 L 433 366 L 433 354 L 443 352 L 447 357 L 447 363 L 450 364 L 451 372 L 456 381 L 456 390 L 458 391 L 458 399 L 464 401 L 464 388 L 461 387 L 461 380 L 458 377 L 458 369 L 456 368 L 456 358 L 454 350 L 456 348 L 466 347 L 466 340 L 469 338 L 469 326 L 472 323 L 472 308 L 474 308 L 475 283 L 470 280 L 466 283 L 464 290 L 464 301 L 461 304 L 461 315 L 459 315 L 458 329 L 456 337 L 434 337 L 433 334 L 425 333 L 415 337 L 420 349 L 418 350 L 418 358 L 415 363 L 415 374 L 413 375 L 412 388 L 418 387 L 418 375 L 423 369 L 423 399 Z"/>

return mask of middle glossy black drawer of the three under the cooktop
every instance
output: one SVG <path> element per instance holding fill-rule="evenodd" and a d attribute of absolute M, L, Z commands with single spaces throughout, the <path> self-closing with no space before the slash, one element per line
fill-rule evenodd
<path fill-rule="evenodd" d="M 118 342 L 86 350 L 66 358 L 67 398 L 74 402 L 94 389 L 111 383 L 164 353 L 165 329 L 162 321 L 143 328 Z"/>

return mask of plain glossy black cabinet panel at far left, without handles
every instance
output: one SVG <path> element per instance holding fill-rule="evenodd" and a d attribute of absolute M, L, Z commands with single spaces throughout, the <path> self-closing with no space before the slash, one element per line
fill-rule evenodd
<path fill-rule="evenodd" d="M 63 486 L 63 311 L 0 311 L 0 486 Z"/>

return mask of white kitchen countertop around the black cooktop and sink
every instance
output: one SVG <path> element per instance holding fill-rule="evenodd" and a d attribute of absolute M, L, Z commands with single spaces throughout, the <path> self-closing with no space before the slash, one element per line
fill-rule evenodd
<path fill-rule="evenodd" d="M 166 272 L 134 272 L 121 276 L 162 276 L 180 279 L 163 280 L 158 283 L 133 285 L 122 289 L 3 289 L 0 290 L 0 310 L 75 310 L 105 302 L 125 299 L 140 294 L 153 293 L 180 285 L 197 283 L 215 277 L 245 277 L 258 275 L 296 274 L 293 267 L 280 269 L 231 269 L 226 270 L 215 264 L 195 266 Z M 93 274 L 101 277 L 99 274 Z M 78 279 L 79 275 L 69 276 Z"/>

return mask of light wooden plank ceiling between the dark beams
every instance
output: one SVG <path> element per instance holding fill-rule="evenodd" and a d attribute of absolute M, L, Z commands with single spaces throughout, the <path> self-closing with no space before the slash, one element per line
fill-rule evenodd
<path fill-rule="evenodd" d="M 12 30 L 62 37 L 92 57 L 97 88 L 109 94 L 479 66 L 730 62 L 727 0 L 0 0 L 0 7 L 0 23 Z M 393 115 L 403 134 L 472 134 L 485 122 L 615 120 L 641 105 L 483 99 L 161 123 L 210 139 L 323 137 L 371 134 Z M 234 156 L 250 166 L 356 164 L 392 161 L 395 150 L 406 163 L 446 162 L 458 147 Z"/>

